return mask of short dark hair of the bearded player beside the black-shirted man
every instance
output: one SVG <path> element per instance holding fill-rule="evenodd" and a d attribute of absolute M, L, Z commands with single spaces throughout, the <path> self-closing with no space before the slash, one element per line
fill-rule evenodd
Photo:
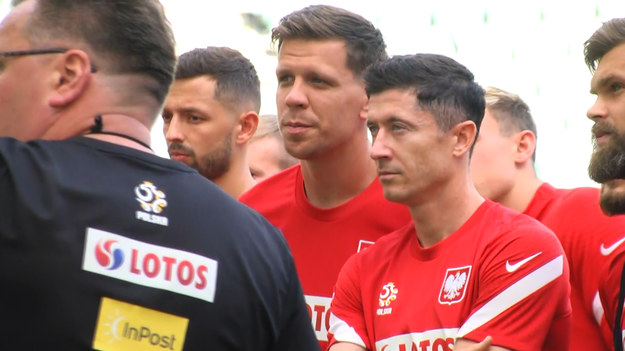
<path fill-rule="evenodd" d="M 250 60 L 228 47 L 209 46 L 184 53 L 178 59 L 176 80 L 208 75 L 216 82 L 215 99 L 231 108 L 251 104 L 260 111 L 260 80 Z"/>

